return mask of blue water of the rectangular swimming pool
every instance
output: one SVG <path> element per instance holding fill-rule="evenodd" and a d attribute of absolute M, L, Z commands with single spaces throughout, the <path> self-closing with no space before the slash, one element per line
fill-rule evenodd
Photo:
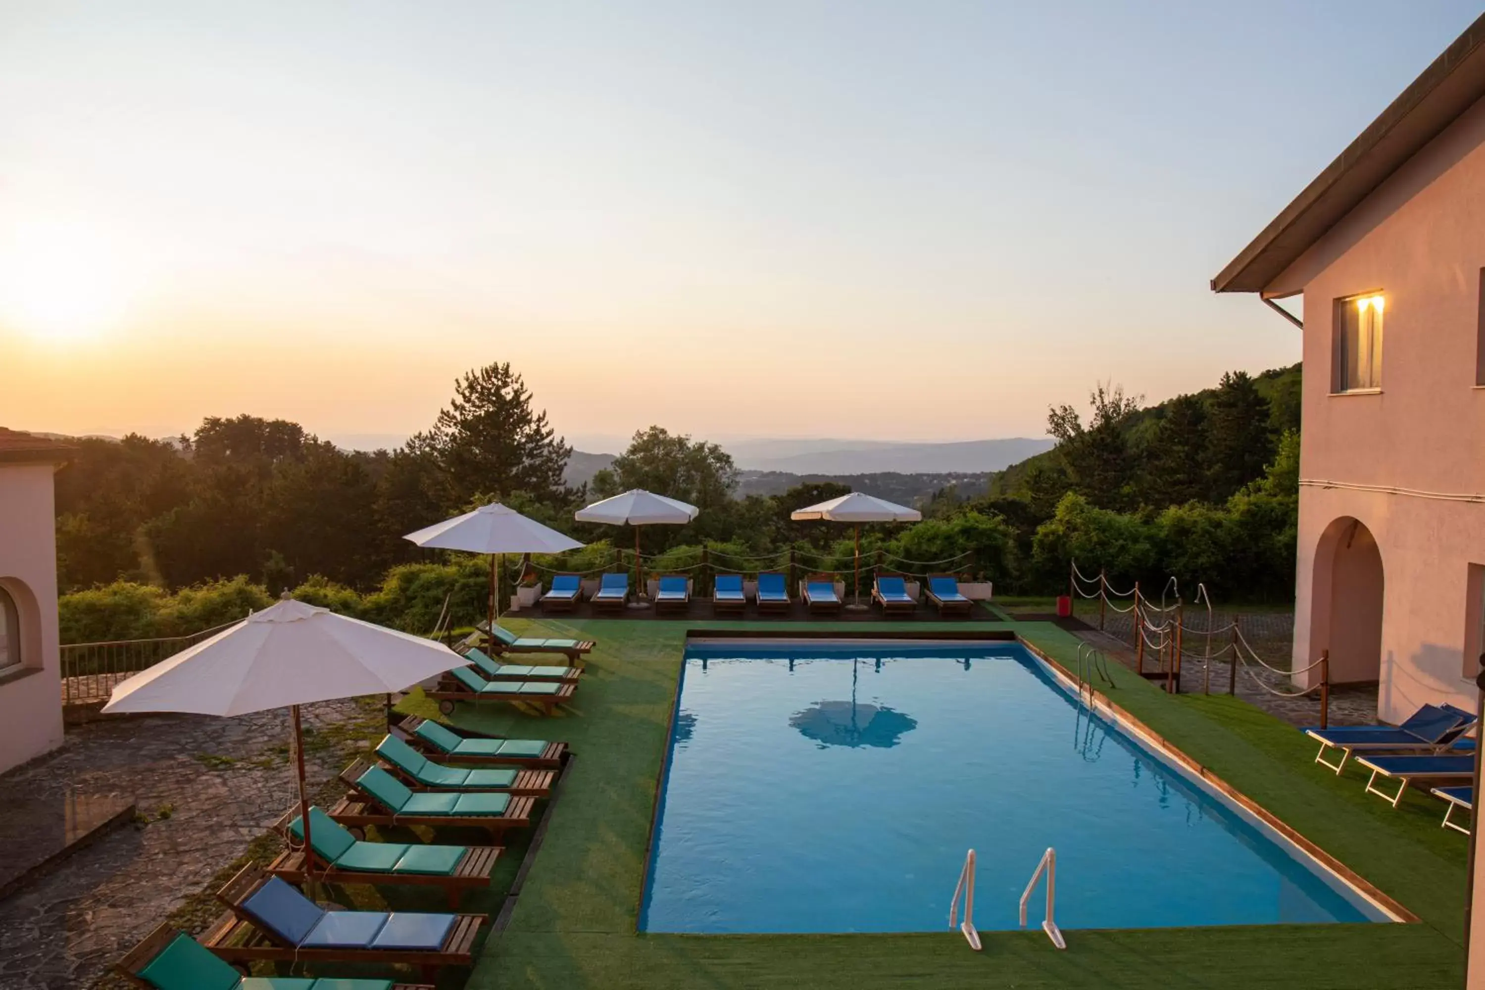
<path fill-rule="evenodd" d="M 1047 846 L 1062 928 L 1386 920 L 1017 644 L 698 643 L 640 928 L 943 931 L 970 848 L 977 926 L 1017 928 Z"/>

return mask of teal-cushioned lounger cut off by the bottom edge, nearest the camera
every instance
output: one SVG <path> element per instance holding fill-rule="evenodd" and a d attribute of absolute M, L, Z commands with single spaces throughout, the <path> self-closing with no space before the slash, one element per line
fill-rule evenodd
<path fill-rule="evenodd" d="M 434 990 L 391 980 L 248 978 L 186 932 L 163 923 L 119 960 L 131 983 L 153 990 Z"/>

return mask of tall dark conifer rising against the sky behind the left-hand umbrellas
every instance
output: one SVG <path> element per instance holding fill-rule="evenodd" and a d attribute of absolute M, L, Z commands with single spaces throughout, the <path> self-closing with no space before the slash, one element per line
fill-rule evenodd
<path fill-rule="evenodd" d="M 526 491 L 558 500 L 572 454 L 546 413 L 532 408 L 532 393 L 509 362 L 465 373 L 432 429 L 408 445 L 437 457 L 454 503 L 477 491 Z"/>

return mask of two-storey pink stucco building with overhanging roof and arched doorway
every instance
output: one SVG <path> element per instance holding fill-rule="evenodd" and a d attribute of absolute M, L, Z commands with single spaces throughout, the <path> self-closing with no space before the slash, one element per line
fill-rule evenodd
<path fill-rule="evenodd" d="M 1485 649 L 1482 42 L 1485 18 L 1212 281 L 1304 298 L 1293 663 L 1329 650 L 1387 721 L 1473 709 Z"/>

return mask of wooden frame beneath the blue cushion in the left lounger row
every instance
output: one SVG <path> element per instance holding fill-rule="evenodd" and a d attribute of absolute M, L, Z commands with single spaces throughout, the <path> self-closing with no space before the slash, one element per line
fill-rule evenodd
<path fill-rule="evenodd" d="M 402 963 L 417 966 L 423 980 L 432 981 L 440 966 L 474 965 L 474 940 L 487 914 L 456 914 L 443 945 L 437 951 L 402 948 L 321 948 L 315 945 L 285 945 L 258 928 L 247 914 L 244 902 L 267 883 L 270 874 L 260 865 L 248 864 L 238 876 L 217 891 L 217 899 L 227 913 L 206 931 L 202 944 L 227 962 L 349 962 Z"/>

